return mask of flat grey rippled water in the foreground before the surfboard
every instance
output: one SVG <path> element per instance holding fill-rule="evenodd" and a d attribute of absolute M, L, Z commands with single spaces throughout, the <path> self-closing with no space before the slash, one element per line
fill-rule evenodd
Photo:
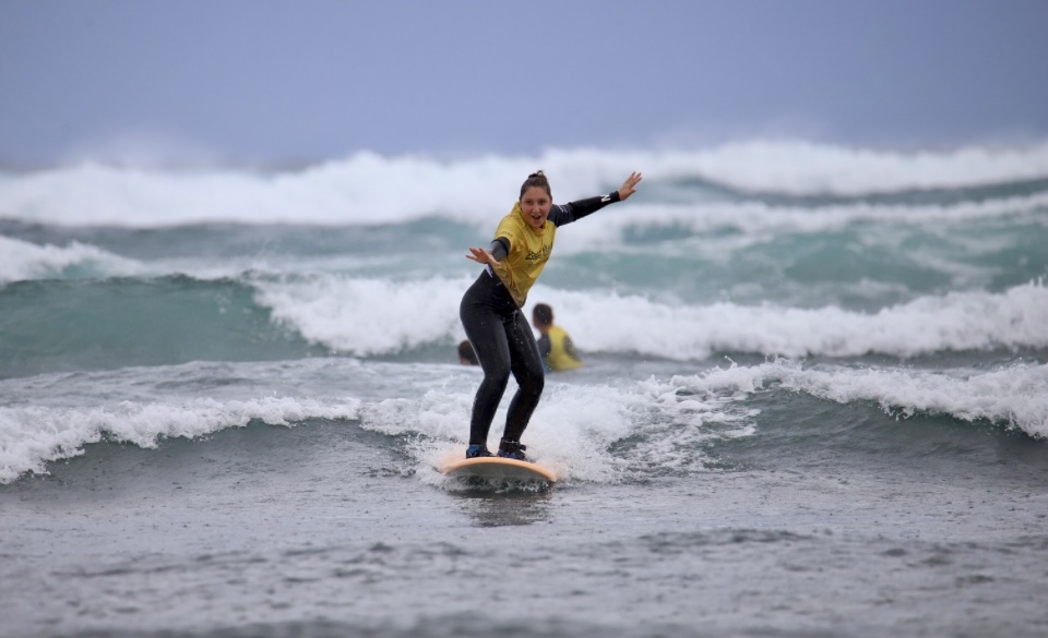
<path fill-rule="evenodd" d="M 47 593 L 12 610 L 25 599 L 8 589 L 5 616 L 21 618 L 12 635 L 1045 627 L 1043 445 L 1020 472 L 989 459 L 928 466 L 938 444 L 884 458 L 908 441 L 900 429 L 860 452 L 841 436 L 801 459 L 743 449 L 731 470 L 476 493 L 421 484 L 395 437 L 360 445 L 370 435 L 347 429 L 255 424 L 156 450 L 97 444 L 104 455 L 0 487 L 5 527 L 21 523 L 4 534 L 5 588 Z M 206 471 L 187 473 L 187 461 Z"/>

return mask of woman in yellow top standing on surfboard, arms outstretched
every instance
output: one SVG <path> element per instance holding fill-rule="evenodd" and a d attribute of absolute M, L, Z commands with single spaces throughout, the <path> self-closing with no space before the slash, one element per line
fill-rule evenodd
<path fill-rule="evenodd" d="M 512 373 L 519 387 L 510 402 L 498 454 L 527 460 L 521 435 L 546 383 L 535 335 L 521 311 L 527 291 L 549 260 L 558 228 L 628 198 L 640 181 L 641 173 L 633 172 L 607 195 L 559 205 L 553 204 L 543 171 L 534 172 L 524 180 L 520 200 L 499 222 L 488 248 L 469 249 L 466 257 L 485 268 L 463 294 L 458 316 L 480 361 L 484 380 L 473 401 L 466 458 L 491 456 L 488 431 Z"/>

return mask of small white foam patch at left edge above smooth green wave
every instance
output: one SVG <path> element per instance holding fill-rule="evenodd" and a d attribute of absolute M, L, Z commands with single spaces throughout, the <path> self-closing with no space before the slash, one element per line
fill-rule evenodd
<path fill-rule="evenodd" d="M 99 248 L 70 242 L 64 246 L 38 245 L 0 237 L 0 282 L 26 279 L 59 279 L 70 276 L 107 277 L 143 270 L 139 262 Z"/>

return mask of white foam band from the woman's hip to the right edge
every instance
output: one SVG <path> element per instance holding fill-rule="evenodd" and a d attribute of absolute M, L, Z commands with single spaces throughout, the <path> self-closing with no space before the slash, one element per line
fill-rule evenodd
<path fill-rule="evenodd" d="M 921 297 L 868 314 L 835 306 L 770 303 L 670 305 L 639 296 L 558 290 L 529 296 L 557 309 L 582 351 L 638 352 L 701 360 L 714 352 L 785 357 L 916 357 L 941 351 L 1048 347 L 1048 288 L 1043 282 L 1002 293 Z"/>

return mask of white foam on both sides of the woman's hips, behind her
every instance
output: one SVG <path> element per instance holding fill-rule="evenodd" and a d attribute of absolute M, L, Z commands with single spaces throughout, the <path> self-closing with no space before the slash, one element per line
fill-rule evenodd
<path fill-rule="evenodd" d="M 355 356 L 396 353 L 464 338 L 458 303 L 471 278 L 418 281 L 318 275 L 259 281 L 258 302 L 306 339 Z M 420 311 L 419 302 L 425 312 Z M 861 313 L 835 306 L 674 305 L 614 291 L 537 285 L 529 303 L 557 309 L 583 352 L 702 360 L 715 352 L 916 357 L 942 351 L 1048 347 L 1048 287 L 951 292 Z M 531 313 L 531 306 L 525 308 Z M 529 316 L 529 314 L 528 314 Z"/>

